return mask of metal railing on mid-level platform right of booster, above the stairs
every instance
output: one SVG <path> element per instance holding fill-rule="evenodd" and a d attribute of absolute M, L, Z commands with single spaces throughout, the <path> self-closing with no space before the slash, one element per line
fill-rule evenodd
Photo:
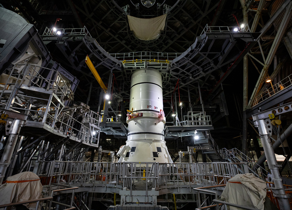
<path fill-rule="evenodd" d="M 211 125 L 211 116 L 205 115 L 203 112 L 188 111 L 188 115 L 184 115 L 184 121 L 181 122 L 183 126 L 186 125 Z M 178 125 L 178 123 L 177 123 Z"/>

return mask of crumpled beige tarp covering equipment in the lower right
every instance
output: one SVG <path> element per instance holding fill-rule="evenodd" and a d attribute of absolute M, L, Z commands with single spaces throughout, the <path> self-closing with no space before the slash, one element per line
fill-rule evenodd
<path fill-rule="evenodd" d="M 237 174 L 228 180 L 221 195 L 226 202 L 264 210 L 267 184 L 253 174 Z M 231 210 L 239 208 L 228 206 Z"/>

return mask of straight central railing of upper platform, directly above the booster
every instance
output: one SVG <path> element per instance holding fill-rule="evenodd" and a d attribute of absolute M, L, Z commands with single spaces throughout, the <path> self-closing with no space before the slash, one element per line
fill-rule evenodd
<path fill-rule="evenodd" d="M 133 60 L 173 60 L 180 56 L 180 52 L 125 52 L 125 53 L 111 53 L 110 55 L 121 61 L 133 61 Z"/>

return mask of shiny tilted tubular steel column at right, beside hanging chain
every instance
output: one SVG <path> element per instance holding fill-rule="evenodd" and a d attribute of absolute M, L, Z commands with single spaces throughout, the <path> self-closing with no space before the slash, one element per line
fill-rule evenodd
<path fill-rule="evenodd" d="M 266 129 L 266 122 L 264 119 L 260 119 L 256 120 L 255 124 L 259 128 L 260 138 L 264 147 L 264 153 L 266 155 L 271 174 L 273 175 L 275 189 L 272 190 L 274 192 L 274 195 L 278 198 L 281 210 L 291 209 L 288 200 L 288 198 L 290 198 L 290 195 L 286 195 L 284 190 L 283 181 L 279 172 L 280 165 L 277 164 L 277 159 L 273 150 L 271 139 L 269 137 L 269 132 Z"/>

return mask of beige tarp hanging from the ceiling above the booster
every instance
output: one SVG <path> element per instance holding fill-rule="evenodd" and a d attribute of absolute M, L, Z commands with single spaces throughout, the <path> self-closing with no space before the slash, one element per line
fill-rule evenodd
<path fill-rule="evenodd" d="M 160 31 L 165 27 L 166 15 L 161 15 L 156 18 L 136 18 L 128 16 L 130 30 L 134 35 L 141 40 L 154 40 L 160 35 Z"/>

